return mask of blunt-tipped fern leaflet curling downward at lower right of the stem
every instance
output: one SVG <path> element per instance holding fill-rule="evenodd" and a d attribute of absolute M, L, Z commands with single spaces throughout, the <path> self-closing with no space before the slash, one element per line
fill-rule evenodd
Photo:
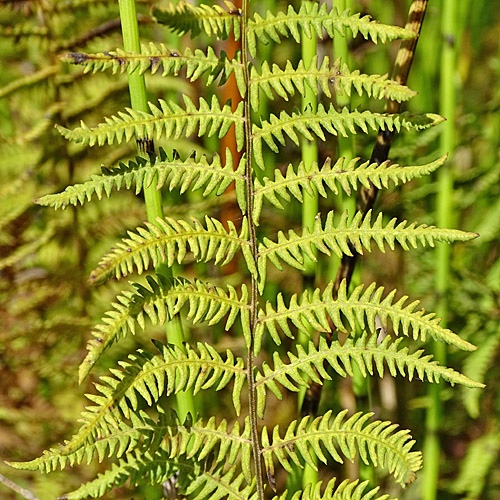
<path fill-rule="evenodd" d="M 303 467 L 299 457 L 317 470 L 313 456 L 327 463 L 323 446 L 336 462 L 343 463 L 338 447 L 349 460 L 354 460 L 359 453 L 365 464 L 371 462 L 375 467 L 386 469 L 403 486 L 411 483 L 415 472 L 422 467 L 422 455 L 411 451 L 415 441 L 409 431 L 395 432 L 397 424 L 388 421 L 367 423 L 373 413 L 359 412 L 347 419 L 346 414 L 347 410 L 343 410 L 332 420 L 330 410 L 312 422 L 309 416 L 299 422 L 294 420 L 283 438 L 279 426 L 274 427 L 272 438 L 264 426 L 262 456 L 268 474 L 274 475 L 274 457 L 290 473 L 293 471 L 290 461 Z"/>

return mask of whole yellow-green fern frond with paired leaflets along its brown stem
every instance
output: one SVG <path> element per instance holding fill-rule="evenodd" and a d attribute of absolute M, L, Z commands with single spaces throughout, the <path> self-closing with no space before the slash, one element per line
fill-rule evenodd
<path fill-rule="evenodd" d="M 133 2 L 132 2 L 133 4 Z M 258 4 L 258 2 L 256 2 Z M 281 399 L 283 391 L 297 391 L 309 381 L 322 383 L 333 376 L 346 377 L 357 368 L 364 376 L 386 371 L 392 376 L 419 377 L 429 382 L 441 379 L 451 384 L 480 387 L 482 384 L 451 368 L 440 366 L 422 350 L 411 352 L 398 335 L 425 341 L 446 342 L 471 351 L 474 346 L 440 326 L 432 313 L 418 308 L 418 301 L 396 299 L 396 291 L 386 293 L 372 283 L 350 293 L 346 283 L 338 292 L 334 284 L 306 290 L 285 298 L 266 295 L 267 268 L 290 265 L 303 269 L 304 260 L 318 254 L 351 255 L 382 251 L 396 244 L 404 250 L 437 242 L 466 241 L 474 234 L 438 229 L 406 221 L 383 221 L 383 215 L 333 212 L 319 215 L 312 227 L 279 231 L 274 238 L 260 234 L 260 219 L 266 204 L 282 209 L 293 199 L 302 202 L 305 193 L 331 197 L 343 191 L 350 195 L 360 186 L 386 188 L 429 174 L 445 158 L 427 165 L 402 167 L 389 162 L 370 164 L 355 159 L 327 158 L 306 171 L 303 164 L 288 165 L 285 173 L 269 171 L 266 158 L 280 154 L 287 138 L 299 145 L 303 139 L 327 140 L 327 136 L 390 131 L 423 130 L 442 121 L 435 114 L 375 113 L 369 110 L 337 109 L 331 98 L 337 93 L 359 94 L 397 101 L 415 93 L 385 76 L 364 75 L 350 70 L 341 61 L 328 58 L 312 64 L 288 61 L 283 67 L 258 62 L 260 44 L 280 44 L 285 38 L 300 43 L 303 37 L 332 38 L 347 31 L 373 42 L 388 42 L 414 36 L 411 31 L 373 21 L 368 16 L 337 12 L 326 3 L 304 3 L 280 12 L 252 13 L 248 0 L 242 8 L 224 5 L 199 6 L 180 1 L 153 9 L 157 21 L 176 33 L 201 33 L 215 39 L 230 34 L 241 40 L 234 58 L 215 49 L 174 49 L 149 43 L 142 51 L 115 51 L 99 54 L 70 53 L 64 60 L 81 65 L 86 72 L 127 70 L 131 75 L 147 71 L 178 75 L 206 83 L 224 83 L 234 75 L 241 102 L 234 108 L 216 95 L 192 99 L 188 96 L 149 103 L 147 109 L 127 108 L 105 118 L 95 127 L 59 127 L 71 141 L 84 145 L 116 144 L 136 139 L 147 141 L 147 158 L 102 168 L 83 184 L 40 198 L 40 205 L 64 208 L 90 202 L 95 195 L 115 196 L 120 189 L 201 190 L 204 197 L 223 194 L 230 185 L 241 210 L 236 222 L 224 225 L 217 218 L 175 219 L 158 217 L 131 229 L 91 274 L 90 281 L 102 283 L 131 273 L 149 273 L 146 281 L 132 284 L 112 304 L 97 325 L 88 343 L 88 354 L 80 368 L 84 379 L 106 349 L 121 338 L 153 325 L 172 321 L 181 311 L 187 320 L 208 325 L 223 323 L 226 329 L 241 331 L 246 354 L 231 349 L 219 352 L 211 343 L 196 345 L 160 343 L 156 350 L 141 349 L 110 370 L 89 395 L 81 427 L 62 445 L 27 463 L 14 467 L 50 472 L 67 464 L 76 465 L 94 458 L 115 457 L 116 463 L 95 480 L 64 496 L 66 499 L 100 497 L 110 489 L 129 482 L 172 485 L 174 494 L 201 500 L 238 498 L 263 500 L 274 490 L 274 498 L 285 498 L 277 468 L 292 472 L 292 465 L 317 468 L 318 461 L 342 462 L 359 456 L 365 463 L 385 469 L 396 482 L 406 485 L 422 466 L 420 452 L 413 450 L 409 431 L 397 430 L 388 421 L 376 420 L 372 413 L 348 415 L 326 411 L 316 418 L 294 420 L 281 430 L 277 425 L 261 425 L 269 392 Z M 265 99 L 293 100 L 294 94 L 312 90 L 323 100 L 316 111 L 286 108 L 259 116 Z M 234 128 L 236 148 L 242 153 L 235 162 L 226 154 L 178 154 L 152 149 L 153 140 L 181 137 L 224 137 Z M 331 142 L 331 141 L 330 141 Z M 269 151 L 270 150 L 270 151 Z M 330 155 L 331 156 L 331 155 Z M 261 175 L 262 174 L 262 175 Z M 240 285 L 215 285 L 196 277 L 173 278 L 165 269 L 188 260 L 223 266 L 240 255 L 245 277 Z M 156 270 L 156 271 L 155 271 Z M 383 340 L 377 322 L 392 328 Z M 335 328 L 348 335 L 346 341 L 327 341 L 324 334 Z M 362 331 L 359 334 L 359 331 Z M 276 347 L 284 337 L 297 333 L 310 337 L 303 347 L 295 344 L 286 356 Z M 170 340 L 170 339 L 167 339 Z M 274 347 L 273 347 L 274 346 Z M 267 354 L 267 356 L 266 356 Z M 267 358 L 267 360 L 262 359 Z M 262 360 L 261 360 L 262 359 Z M 272 361 L 271 361 L 272 359 Z M 165 408 L 164 395 L 191 390 L 230 391 L 233 419 L 215 416 L 180 418 Z M 242 397 L 242 394 L 245 397 Z M 243 404 L 243 401 L 245 404 Z M 149 411 L 145 411 L 145 407 Z M 243 420 L 237 417 L 245 415 Z M 378 488 L 367 482 L 317 482 L 301 491 L 288 492 L 299 499 L 372 499 Z M 383 495 L 377 498 L 388 498 Z"/>

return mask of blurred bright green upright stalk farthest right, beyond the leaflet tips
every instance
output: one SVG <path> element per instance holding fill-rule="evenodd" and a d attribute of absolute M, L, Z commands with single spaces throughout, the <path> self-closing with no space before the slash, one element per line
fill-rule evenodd
<path fill-rule="evenodd" d="M 452 153 L 455 147 L 455 73 L 456 73 L 456 2 L 444 0 L 441 13 L 443 48 L 441 52 L 440 113 L 447 118 L 441 134 L 441 150 Z M 437 222 L 440 227 L 450 227 L 453 210 L 453 172 L 451 165 L 445 165 L 438 173 Z M 448 288 L 450 275 L 451 247 L 439 245 L 436 249 L 436 315 L 446 327 L 448 316 Z M 433 354 L 440 364 L 446 363 L 444 344 L 433 342 Z M 439 480 L 439 459 L 441 446 L 439 427 L 442 420 L 442 389 L 439 384 L 429 388 L 429 408 L 426 414 L 424 443 L 425 463 L 423 469 L 423 500 L 435 500 Z"/>

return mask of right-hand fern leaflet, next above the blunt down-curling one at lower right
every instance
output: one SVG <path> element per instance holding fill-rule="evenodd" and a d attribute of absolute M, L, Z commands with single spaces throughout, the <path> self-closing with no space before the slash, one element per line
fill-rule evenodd
<path fill-rule="evenodd" d="M 364 377 L 378 373 L 384 376 L 384 364 L 390 374 L 395 377 L 398 372 L 403 377 L 412 380 L 417 376 L 420 380 L 438 383 L 440 379 L 466 387 L 484 387 L 452 368 L 439 365 L 432 360 L 431 355 L 423 355 L 423 350 L 409 353 L 407 347 L 400 347 L 403 339 L 392 341 L 389 336 L 377 343 L 377 335 L 368 336 L 364 333 L 357 339 L 347 339 L 341 344 L 334 341 L 329 346 L 324 337 L 320 338 L 319 347 L 310 341 L 307 351 L 299 344 L 297 354 L 288 353 L 289 363 L 284 363 L 277 352 L 273 354 L 274 367 L 264 362 L 262 370 L 256 375 L 257 406 L 259 415 L 264 415 L 266 392 L 270 390 L 278 399 L 283 395 L 277 383 L 286 389 L 297 392 L 299 387 L 308 387 L 308 380 L 322 384 L 322 380 L 331 380 L 324 367 L 326 362 L 340 376 L 354 374 L 353 362 Z M 375 366 L 375 370 L 374 367 Z"/>

